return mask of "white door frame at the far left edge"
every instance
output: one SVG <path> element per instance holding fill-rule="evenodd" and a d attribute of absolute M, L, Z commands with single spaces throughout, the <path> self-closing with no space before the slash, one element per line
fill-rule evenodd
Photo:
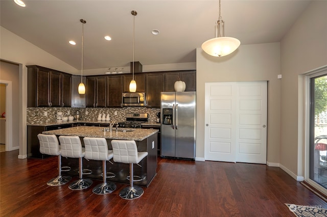
<path fill-rule="evenodd" d="M 6 85 L 6 151 L 12 151 L 12 82 L 0 80 L 0 83 Z"/>

